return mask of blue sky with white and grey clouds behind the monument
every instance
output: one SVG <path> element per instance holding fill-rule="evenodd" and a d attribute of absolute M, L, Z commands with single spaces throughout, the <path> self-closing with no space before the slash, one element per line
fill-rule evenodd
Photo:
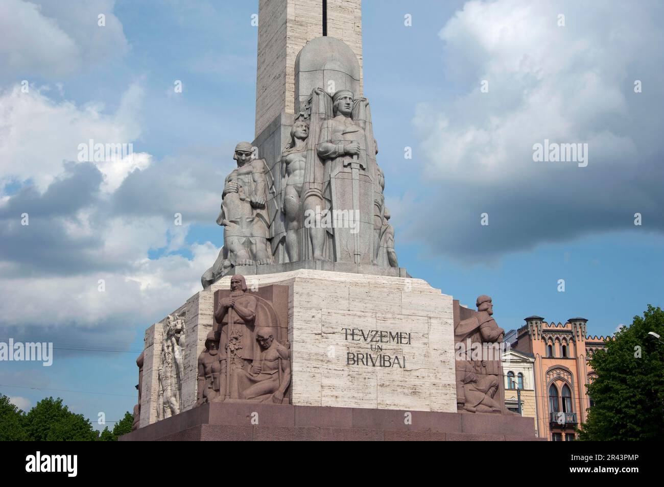
<path fill-rule="evenodd" d="M 365 0 L 365 96 L 400 265 L 467 305 L 488 293 L 506 329 L 531 314 L 583 316 L 607 335 L 661 305 L 662 10 Z M 257 11 L 3 2 L 0 340 L 121 350 L 56 350 L 50 368 L 1 362 L 0 392 L 16 403 L 59 395 L 93 421 L 131 411 L 143 331 L 199 289 L 222 245 L 214 219 L 232 147 L 254 137 Z M 137 154 L 77 162 L 90 138 Z M 544 138 L 589 143 L 588 167 L 535 163 Z"/>

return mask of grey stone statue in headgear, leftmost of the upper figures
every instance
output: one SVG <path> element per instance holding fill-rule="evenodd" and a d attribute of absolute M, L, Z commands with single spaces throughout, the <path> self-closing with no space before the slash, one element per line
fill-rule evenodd
<path fill-rule="evenodd" d="M 233 159 L 237 169 L 228 174 L 216 219 L 224 227 L 224 250 L 233 265 L 274 263 L 268 239 L 274 218 L 274 185 L 264 159 L 254 159 L 253 147 L 240 142 Z"/>

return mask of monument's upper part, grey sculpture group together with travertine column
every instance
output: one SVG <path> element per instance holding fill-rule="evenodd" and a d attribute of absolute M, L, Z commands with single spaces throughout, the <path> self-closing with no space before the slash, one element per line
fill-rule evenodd
<path fill-rule="evenodd" d="M 259 25 L 256 139 L 236 147 L 238 169 L 224 182 L 217 219 L 224 247 L 201 277 L 204 289 L 225 275 L 296 269 L 409 277 L 398 267 L 371 107 L 362 94 L 361 3 L 325 7 L 260 2 L 259 18 L 280 12 L 286 25 Z M 323 23 L 330 29 L 321 36 Z M 274 53 L 278 62 L 265 56 L 278 47 L 268 40 L 274 38 L 286 46 Z M 285 62 L 286 69 L 276 73 L 262 62 Z M 276 94 L 276 87 L 284 91 Z M 260 195 L 252 199 L 254 191 Z"/>

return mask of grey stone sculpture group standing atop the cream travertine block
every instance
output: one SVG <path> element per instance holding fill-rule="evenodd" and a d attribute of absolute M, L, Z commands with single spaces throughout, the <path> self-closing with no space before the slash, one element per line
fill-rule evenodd
<path fill-rule="evenodd" d="M 371 109 L 350 90 L 315 88 L 280 157 L 280 190 L 256 148 L 236 145 L 216 220 L 224 246 L 203 287 L 241 265 L 302 260 L 398 267 Z"/>

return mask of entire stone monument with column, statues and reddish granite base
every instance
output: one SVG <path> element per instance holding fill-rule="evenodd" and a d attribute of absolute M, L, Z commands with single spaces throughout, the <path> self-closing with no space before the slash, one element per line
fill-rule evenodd
<path fill-rule="evenodd" d="M 503 339 L 491 299 L 461 307 L 398 267 L 361 0 L 260 0 L 259 18 L 256 137 L 220 184 L 224 245 L 147 329 L 122 439 L 534 439 L 505 414 L 500 355 L 472 353 Z"/>

